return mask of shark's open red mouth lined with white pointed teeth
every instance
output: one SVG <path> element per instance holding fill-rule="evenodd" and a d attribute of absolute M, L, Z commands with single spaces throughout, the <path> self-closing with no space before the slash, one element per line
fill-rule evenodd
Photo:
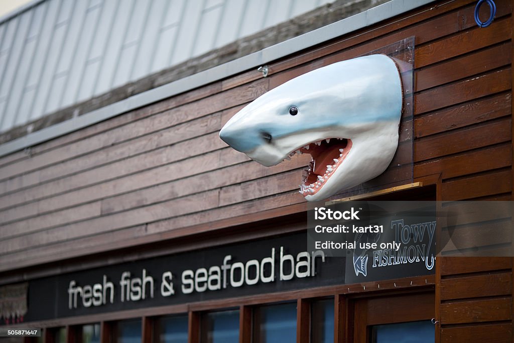
<path fill-rule="evenodd" d="M 309 143 L 289 154 L 310 154 L 312 160 L 302 174 L 300 194 L 303 196 L 316 194 L 335 174 L 344 158 L 352 149 L 352 140 L 346 138 L 326 138 Z"/>

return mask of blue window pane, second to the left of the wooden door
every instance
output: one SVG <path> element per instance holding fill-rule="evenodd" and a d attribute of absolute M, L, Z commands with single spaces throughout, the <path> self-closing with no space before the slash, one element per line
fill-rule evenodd
<path fill-rule="evenodd" d="M 253 341 L 296 343 L 296 302 L 255 308 Z"/>

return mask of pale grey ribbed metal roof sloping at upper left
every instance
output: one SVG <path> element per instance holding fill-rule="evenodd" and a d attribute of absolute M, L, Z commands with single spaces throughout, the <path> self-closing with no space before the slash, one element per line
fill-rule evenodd
<path fill-rule="evenodd" d="M 0 132 L 333 1 L 34 1 L 0 22 Z"/>

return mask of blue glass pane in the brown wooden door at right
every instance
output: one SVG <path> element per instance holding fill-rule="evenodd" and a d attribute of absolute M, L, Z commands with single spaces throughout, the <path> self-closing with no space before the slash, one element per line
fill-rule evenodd
<path fill-rule="evenodd" d="M 435 329 L 430 320 L 375 325 L 372 343 L 434 343 Z"/>

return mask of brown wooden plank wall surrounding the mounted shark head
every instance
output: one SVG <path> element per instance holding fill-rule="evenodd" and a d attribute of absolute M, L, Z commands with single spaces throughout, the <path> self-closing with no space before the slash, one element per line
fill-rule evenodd
<path fill-rule="evenodd" d="M 440 175 L 442 200 L 510 200 L 512 16 L 496 3 L 488 28 L 476 1 L 441 1 L 271 63 L 268 78 L 250 70 L 0 158 L 0 272 L 304 209 L 308 157 L 265 168 L 219 129 L 292 77 L 411 35 L 415 178 Z M 438 339 L 507 341 L 511 272 L 510 259 L 438 261 Z"/>

